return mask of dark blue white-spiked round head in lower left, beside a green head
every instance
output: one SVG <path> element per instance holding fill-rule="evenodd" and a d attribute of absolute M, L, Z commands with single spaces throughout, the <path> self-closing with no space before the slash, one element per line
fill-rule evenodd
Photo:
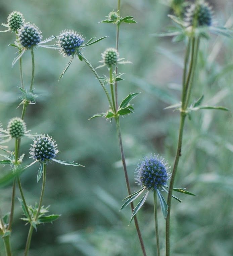
<path fill-rule="evenodd" d="M 58 153 L 57 144 L 51 136 L 39 136 L 37 139 L 33 140 L 30 148 L 30 155 L 34 160 L 39 160 L 43 162 L 50 162 L 56 157 Z"/>

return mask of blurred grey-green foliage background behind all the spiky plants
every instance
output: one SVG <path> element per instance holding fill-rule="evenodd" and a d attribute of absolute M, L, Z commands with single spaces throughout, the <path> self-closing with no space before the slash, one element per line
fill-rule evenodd
<path fill-rule="evenodd" d="M 166 2 L 166 1 L 162 1 Z M 212 1 L 219 25 L 233 24 L 232 2 Z M 113 8 L 116 0 L 36 1 L 8 0 L 0 3 L 0 22 L 6 23 L 13 10 L 22 12 L 42 30 L 43 38 L 74 29 L 87 39 L 110 37 L 87 47 L 85 56 L 98 66 L 101 53 L 115 45 L 115 26 L 98 24 Z M 122 119 L 123 143 L 132 191 L 135 191 L 134 168 L 139 159 L 150 153 L 164 156 L 172 166 L 178 136 L 179 113 L 164 108 L 180 101 L 184 43 L 171 38 L 151 37 L 171 24 L 171 9 L 154 0 L 122 0 L 122 15 L 135 16 L 138 24 L 123 24 L 120 32 L 120 56 L 133 62 L 120 67 L 125 80 L 119 83 L 119 99 L 130 92 L 141 92 L 134 100 L 135 113 Z M 4 27 L 1 28 L 2 30 Z M 0 121 L 6 127 L 10 118 L 21 115 L 18 63 L 11 68 L 15 49 L 11 33 L 0 34 Z M 193 97 L 204 94 L 203 105 L 223 105 L 232 110 L 232 39 L 211 36 L 202 40 Z M 30 255 L 39 256 L 133 256 L 141 255 L 133 223 L 128 226 L 130 209 L 119 212 L 127 195 L 115 123 L 104 119 L 88 121 L 93 114 L 108 109 L 102 88 L 85 63 L 75 59 L 57 82 L 69 58 L 56 50 L 35 51 L 35 93 L 37 104 L 27 109 L 25 121 L 32 132 L 53 136 L 58 143 L 59 159 L 75 160 L 85 168 L 48 166 L 44 205 L 50 213 L 61 214 L 53 224 L 40 225 L 34 232 Z M 23 57 L 26 86 L 31 79 L 31 56 Z M 99 73 L 106 74 L 106 68 Z M 173 256 L 233 255 L 233 137 L 232 112 L 203 110 L 186 120 L 183 151 L 176 187 L 187 187 L 197 197 L 177 195 L 173 201 L 171 243 Z M 32 141 L 22 140 L 26 153 Z M 9 149 L 13 150 L 13 143 Z M 0 175 L 8 172 L 0 166 Z M 39 200 L 41 182 L 38 166 L 21 176 L 27 202 Z M 17 190 L 17 196 L 19 191 Z M 11 186 L 1 188 L 0 203 L 4 213 L 10 209 Z M 14 255 L 23 255 L 29 226 L 19 220 L 22 211 L 15 203 L 13 232 Z M 165 247 L 165 221 L 159 210 L 162 251 Z M 148 256 L 155 254 L 152 195 L 138 214 Z M 0 255 L 4 255 L 2 240 Z"/>

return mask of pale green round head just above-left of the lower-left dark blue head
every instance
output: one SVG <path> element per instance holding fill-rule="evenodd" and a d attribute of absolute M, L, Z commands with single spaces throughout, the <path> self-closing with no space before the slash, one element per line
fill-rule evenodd
<path fill-rule="evenodd" d="M 7 131 L 11 138 L 18 139 L 22 137 L 25 134 L 26 130 L 27 129 L 25 122 L 19 117 L 12 118 L 8 122 Z"/>

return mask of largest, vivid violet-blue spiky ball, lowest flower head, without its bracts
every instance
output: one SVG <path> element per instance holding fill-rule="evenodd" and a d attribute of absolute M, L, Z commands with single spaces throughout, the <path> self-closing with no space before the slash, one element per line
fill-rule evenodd
<path fill-rule="evenodd" d="M 136 169 L 136 181 L 146 189 L 160 189 L 167 184 L 170 174 L 168 162 L 157 156 L 145 157 Z"/>

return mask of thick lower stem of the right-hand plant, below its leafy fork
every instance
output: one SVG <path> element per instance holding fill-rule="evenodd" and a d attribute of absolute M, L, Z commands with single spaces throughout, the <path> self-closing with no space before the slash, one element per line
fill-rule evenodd
<path fill-rule="evenodd" d="M 180 116 L 178 146 L 177 146 L 177 151 L 176 151 L 175 163 L 174 163 L 174 167 L 172 170 L 172 176 L 171 176 L 171 180 L 170 180 L 168 199 L 167 199 L 168 215 L 167 215 L 167 219 L 166 219 L 166 256 L 170 255 L 170 215 L 171 215 L 172 191 L 173 191 L 177 166 L 179 163 L 179 159 L 181 157 L 181 146 L 182 146 L 182 138 L 183 138 L 183 130 L 184 130 L 184 121 L 185 121 L 185 117 L 186 117 L 186 114 L 184 112 L 181 112 L 180 114 L 181 114 L 181 116 Z"/>

